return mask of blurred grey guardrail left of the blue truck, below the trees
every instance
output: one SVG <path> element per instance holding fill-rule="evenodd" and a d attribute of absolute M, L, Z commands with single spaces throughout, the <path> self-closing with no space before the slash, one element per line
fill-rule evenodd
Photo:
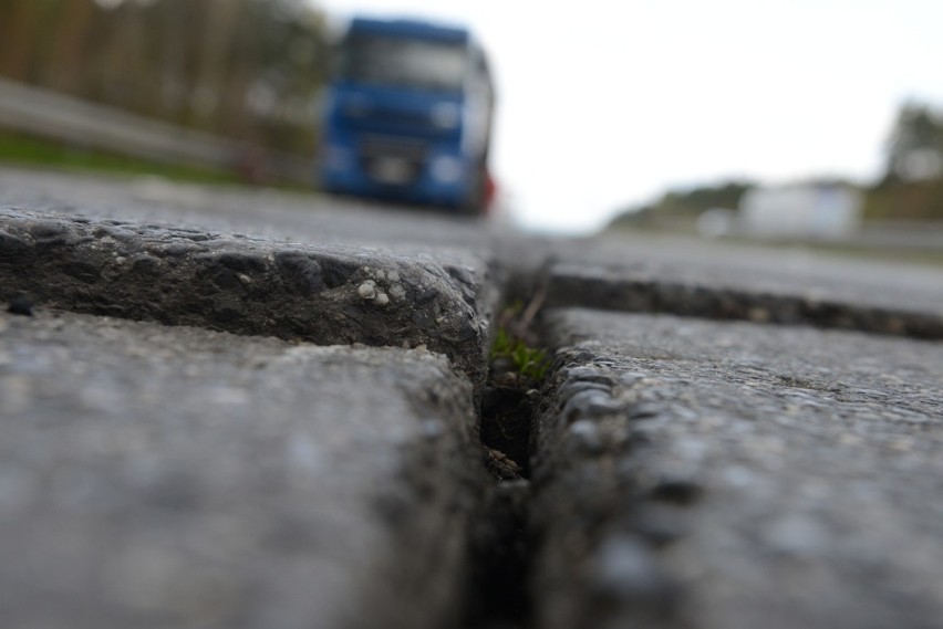
<path fill-rule="evenodd" d="M 236 140 L 7 78 L 0 78 L 0 126 L 158 161 L 235 170 L 253 160 L 279 179 L 310 184 L 313 176 L 313 157 L 260 154 Z"/>

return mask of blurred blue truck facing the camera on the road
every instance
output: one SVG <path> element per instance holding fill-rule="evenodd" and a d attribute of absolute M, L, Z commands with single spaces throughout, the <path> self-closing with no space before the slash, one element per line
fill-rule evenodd
<path fill-rule="evenodd" d="M 354 18 L 328 88 L 321 187 L 481 213 L 494 104 L 484 50 L 467 29 Z"/>

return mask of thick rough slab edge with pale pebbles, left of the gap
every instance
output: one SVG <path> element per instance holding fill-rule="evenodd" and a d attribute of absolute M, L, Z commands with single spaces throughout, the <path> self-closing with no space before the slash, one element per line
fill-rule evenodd
<path fill-rule="evenodd" d="M 479 384 L 486 262 L 0 208 L 0 298 L 321 345 L 417 347 Z"/>

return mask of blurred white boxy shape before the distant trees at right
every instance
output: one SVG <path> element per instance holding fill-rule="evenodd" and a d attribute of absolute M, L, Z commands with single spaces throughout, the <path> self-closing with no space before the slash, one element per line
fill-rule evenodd
<path fill-rule="evenodd" d="M 861 192 L 843 185 L 754 188 L 740 199 L 737 227 L 757 237 L 841 239 L 858 230 L 862 205 Z"/>

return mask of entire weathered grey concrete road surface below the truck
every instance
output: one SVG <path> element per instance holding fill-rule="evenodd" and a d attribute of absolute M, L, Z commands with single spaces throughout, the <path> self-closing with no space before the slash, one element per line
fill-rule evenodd
<path fill-rule="evenodd" d="M 4 627 L 943 627 L 941 270 L 0 169 L 0 293 Z"/>

